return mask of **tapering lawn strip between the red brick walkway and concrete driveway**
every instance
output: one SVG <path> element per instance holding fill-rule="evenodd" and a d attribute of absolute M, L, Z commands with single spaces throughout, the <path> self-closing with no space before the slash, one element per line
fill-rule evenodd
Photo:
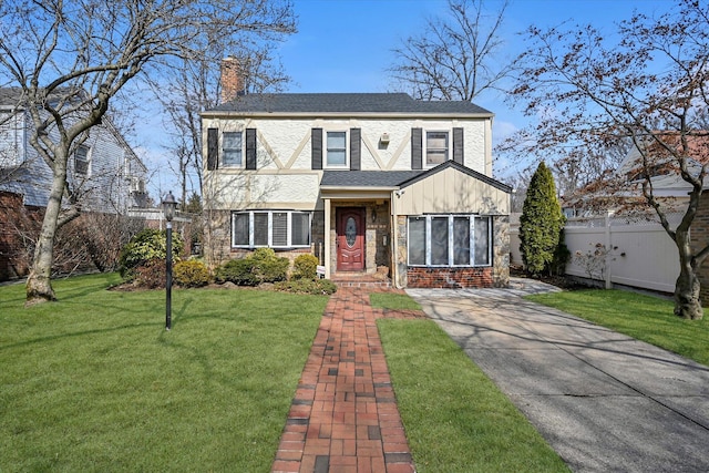
<path fill-rule="evenodd" d="M 381 319 L 378 327 L 417 471 L 568 471 L 433 321 Z"/>

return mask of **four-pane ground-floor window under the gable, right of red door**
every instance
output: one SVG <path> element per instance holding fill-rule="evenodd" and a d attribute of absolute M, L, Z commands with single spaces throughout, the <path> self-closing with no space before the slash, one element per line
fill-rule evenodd
<path fill-rule="evenodd" d="M 409 217 L 409 266 L 490 266 L 491 229 L 486 216 Z"/>

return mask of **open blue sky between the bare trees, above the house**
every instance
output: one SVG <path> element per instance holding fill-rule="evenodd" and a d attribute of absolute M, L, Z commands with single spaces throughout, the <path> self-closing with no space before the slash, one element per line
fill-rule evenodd
<path fill-rule="evenodd" d="M 500 0 L 486 0 L 493 14 Z M 639 9 L 646 13 L 669 9 L 674 0 L 511 0 L 502 31 L 504 55 L 524 49 L 517 33 L 531 24 L 544 28 L 571 21 L 592 23 L 612 32 L 615 23 Z M 387 69 L 391 50 L 421 31 L 427 18 L 446 14 L 446 0 L 294 0 L 298 32 L 280 44 L 277 54 L 292 79 L 287 92 L 388 92 Z M 525 119 L 501 94 L 475 100 L 495 114 L 493 138 L 504 138 L 524 126 Z M 162 161 L 162 158 L 158 158 Z M 152 160 L 150 160 L 152 161 Z M 515 169 L 495 164 L 495 177 L 504 179 Z M 171 176 L 158 175 L 153 187 L 169 186 Z"/>

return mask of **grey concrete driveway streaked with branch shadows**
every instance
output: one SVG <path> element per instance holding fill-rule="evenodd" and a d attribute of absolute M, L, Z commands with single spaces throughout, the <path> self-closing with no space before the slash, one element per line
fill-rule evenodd
<path fill-rule="evenodd" d="M 409 289 L 576 472 L 709 472 L 709 368 L 521 298 Z"/>

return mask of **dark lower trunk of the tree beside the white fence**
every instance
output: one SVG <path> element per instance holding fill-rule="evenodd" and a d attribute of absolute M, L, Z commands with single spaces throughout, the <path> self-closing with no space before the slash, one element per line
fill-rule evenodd
<path fill-rule="evenodd" d="M 675 282 L 675 315 L 682 319 L 701 320 L 703 310 L 699 298 L 699 276 L 691 251 L 688 232 L 677 232 L 679 277 Z"/>

